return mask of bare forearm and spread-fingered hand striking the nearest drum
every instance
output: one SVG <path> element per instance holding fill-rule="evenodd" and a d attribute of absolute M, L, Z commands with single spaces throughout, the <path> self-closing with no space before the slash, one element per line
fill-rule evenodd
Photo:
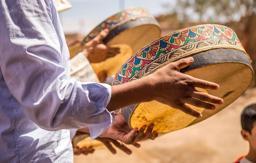
<path fill-rule="evenodd" d="M 195 89 L 218 89 L 218 84 L 180 73 L 180 69 L 189 66 L 193 61 L 192 57 L 184 58 L 138 80 L 112 86 L 107 109 L 114 111 L 128 105 L 156 100 L 194 117 L 202 117 L 201 113 L 185 103 L 204 109 L 215 109 L 216 106 L 211 103 L 222 104 L 223 100 Z"/>

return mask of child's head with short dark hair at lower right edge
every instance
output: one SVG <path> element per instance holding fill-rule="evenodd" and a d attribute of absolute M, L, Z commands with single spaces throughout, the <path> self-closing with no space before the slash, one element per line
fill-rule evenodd
<path fill-rule="evenodd" d="M 241 115 L 242 136 L 256 149 L 256 104 L 247 106 Z"/>

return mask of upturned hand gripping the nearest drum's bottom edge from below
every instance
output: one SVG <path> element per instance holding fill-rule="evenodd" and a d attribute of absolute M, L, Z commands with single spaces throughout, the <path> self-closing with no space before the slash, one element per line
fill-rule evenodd
<path fill-rule="evenodd" d="M 110 126 L 100 137 L 108 137 L 111 139 L 119 140 L 125 144 L 132 144 L 135 147 L 140 147 L 138 141 L 152 139 L 154 140 L 158 133 L 153 131 L 154 124 L 148 125 L 146 132 L 144 133 L 147 125 L 143 125 L 139 130 L 138 128 L 130 129 L 129 125 L 124 120 L 124 117 L 119 114 L 116 115 L 116 123 Z"/>

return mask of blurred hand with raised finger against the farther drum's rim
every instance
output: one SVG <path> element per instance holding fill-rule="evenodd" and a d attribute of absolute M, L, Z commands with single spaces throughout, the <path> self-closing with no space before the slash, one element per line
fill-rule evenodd
<path fill-rule="evenodd" d="M 90 63 L 98 63 L 120 53 L 119 48 L 110 48 L 102 44 L 102 40 L 108 35 L 108 29 L 104 29 L 94 39 L 84 45 L 82 52 Z"/>

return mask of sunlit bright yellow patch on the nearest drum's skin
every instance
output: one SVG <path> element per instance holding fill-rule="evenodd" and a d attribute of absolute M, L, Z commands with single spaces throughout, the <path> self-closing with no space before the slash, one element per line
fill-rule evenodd
<path fill-rule="evenodd" d="M 208 93 L 205 89 L 196 89 L 198 91 Z M 185 103 L 185 105 L 191 107 L 199 113 L 202 113 L 204 111 L 204 109 L 200 107 L 195 107 L 187 103 Z M 140 103 L 137 106 L 132 114 L 130 126 L 132 126 L 132 128 L 140 128 L 144 124 L 149 125 L 150 123 L 154 123 L 154 130 L 158 131 L 159 133 L 165 133 L 168 131 L 182 129 L 195 119 L 196 117 L 188 116 L 187 114 L 178 109 L 174 109 L 158 101 L 150 101 Z"/>

